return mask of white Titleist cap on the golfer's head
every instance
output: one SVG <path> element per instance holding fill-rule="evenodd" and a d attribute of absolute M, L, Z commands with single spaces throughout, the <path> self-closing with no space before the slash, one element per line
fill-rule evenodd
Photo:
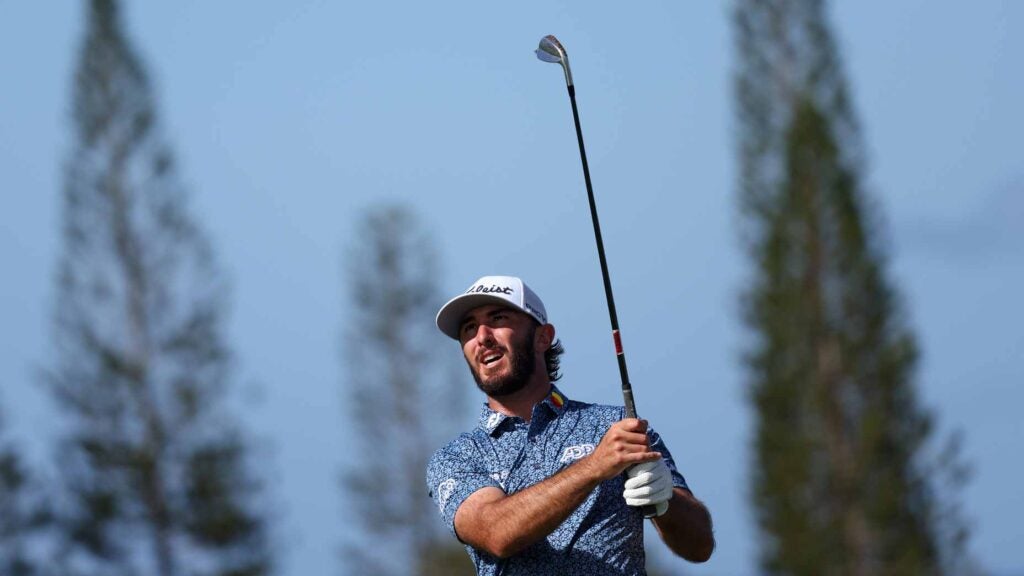
<path fill-rule="evenodd" d="M 484 276 L 441 306 L 437 312 L 437 328 L 458 340 L 459 326 L 466 313 L 484 304 L 508 305 L 528 314 L 542 325 L 548 323 L 544 302 L 522 280 L 514 276 Z"/>

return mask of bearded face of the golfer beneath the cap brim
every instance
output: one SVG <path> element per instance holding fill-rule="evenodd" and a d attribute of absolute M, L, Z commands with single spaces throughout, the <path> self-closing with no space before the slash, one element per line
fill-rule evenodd
<path fill-rule="evenodd" d="M 473 379 L 489 397 L 519 392 L 537 371 L 537 324 L 507 306 L 473 308 L 459 328 L 459 340 Z"/>

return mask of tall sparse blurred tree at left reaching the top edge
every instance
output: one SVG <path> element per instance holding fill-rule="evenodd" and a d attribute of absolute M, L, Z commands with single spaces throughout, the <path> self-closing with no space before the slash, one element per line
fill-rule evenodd
<path fill-rule="evenodd" d="M 65 571 L 265 574 L 259 486 L 225 405 L 225 283 L 116 3 L 87 11 L 47 373 L 67 424 Z"/>

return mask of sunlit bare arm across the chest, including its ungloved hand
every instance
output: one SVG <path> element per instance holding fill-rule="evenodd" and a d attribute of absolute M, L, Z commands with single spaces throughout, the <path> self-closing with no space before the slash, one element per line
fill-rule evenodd
<path fill-rule="evenodd" d="M 459 506 L 455 529 L 467 544 L 508 558 L 551 534 L 601 482 L 662 454 L 647 446 L 647 422 L 615 422 L 589 456 L 525 490 L 477 490 Z M 671 510 L 670 506 L 670 510 Z M 668 516 L 669 512 L 666 512 Z"/>

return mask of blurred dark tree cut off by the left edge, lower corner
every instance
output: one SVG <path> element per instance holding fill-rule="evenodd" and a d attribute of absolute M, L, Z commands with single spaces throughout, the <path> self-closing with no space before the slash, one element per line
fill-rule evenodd
<path fill-rule="evenodd" d="M 35 478 L 15 446 L 5 437 L 0 414 L 0 574 L 43 574 L 41 540 L 50 524 L 49 509 Z"/>

